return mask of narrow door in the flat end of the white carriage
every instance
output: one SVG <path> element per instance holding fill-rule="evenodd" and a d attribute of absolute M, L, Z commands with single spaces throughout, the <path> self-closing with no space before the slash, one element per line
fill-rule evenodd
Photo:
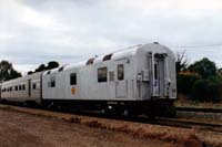
<path fill-rule="evenodd" d="M 164 95 L 164 55 L 155 54 L 153 63 L 153 96 Z"/>

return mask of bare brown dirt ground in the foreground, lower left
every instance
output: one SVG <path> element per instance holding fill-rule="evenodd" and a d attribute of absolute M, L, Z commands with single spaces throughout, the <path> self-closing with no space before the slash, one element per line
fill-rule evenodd
<path fill-rule="evenodd" d="M 159 140 L 134 138 L 124 133 L 65 123 L 54 118 L 0 109 L 1 147 L 162 147 Z"/>

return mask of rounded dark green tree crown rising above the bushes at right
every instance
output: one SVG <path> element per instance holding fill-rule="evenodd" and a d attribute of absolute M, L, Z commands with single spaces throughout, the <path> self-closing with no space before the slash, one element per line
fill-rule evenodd
<path fill-rule="evenodd" d="M 191 64 L 189 66 L 189 71 L 200 74 L 203 78 L 216 75 L 215 63 L 206 57 L 203 57 L 202 60 Z"/>

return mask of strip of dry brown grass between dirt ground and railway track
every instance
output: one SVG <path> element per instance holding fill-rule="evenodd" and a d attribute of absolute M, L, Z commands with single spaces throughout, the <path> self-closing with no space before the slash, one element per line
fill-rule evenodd
<path fill-rule="evenodd" d="M 2 106 L 0 106 L 0 108 Z M 138 138 L 162 140 L 170 144 L 180 145 L 182 147 L 199 147 L 203 144 L 214 145 L 214 143 L 205 141 L 203 138 L 200 138 L 196 135 L 196 132 L 193 129 L 173 128 L 155 125 L 153 126 L 148 124 L 129 123 L 122 120 L 110 120 L 104 118 L 94 118 L 88 116 L 46 112 L 40 109 L 20 108 L 13 106 L 7 107 L 7 109 L 37 116 L 62 119 L 68 123 L 77 123 L 94 128 L 103 128 L 113 132 L 124 133 Z M 222 145 L 222 143 L 219 143 L 219 145 Z"/>

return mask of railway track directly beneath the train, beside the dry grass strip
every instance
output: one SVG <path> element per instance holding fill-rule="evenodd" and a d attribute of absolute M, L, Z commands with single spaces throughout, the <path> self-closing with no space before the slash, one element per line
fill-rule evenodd
<path fill-rule="evenodd" d="M 30 108 L 30 107 L 21 107 L 21 106 L 12 106 L 12 105 L 6 105 L 4 107 L 9 107 L 11 109 L 16 109 L 18 112 L 26 113 L 26 109 L 40 109 L 40 108 Z M 19 107 L 19 108 L 17 108 Z M 2 108 L 2 107 L 0 107 Z M 21 111 L 22 109 L 22 111 Z M 50 109 L 41 109 L 47 112 L 52 112 Z M 29 111 L 28 111 L 29 112 Z M 82 115 L 82 116 L 89 116 L 94 118 L 107 118 L 107 119 L 117 119 L 117 120 L 125 120 L 125 122 L 133 122 L 133 123 L 142 123 L 142 124 L 151 124 L 151 125 L 161 125 L 161 126 L 171 126 L 171 127 L 182 127 L 182 128 L 199 128 L 203 130 L 211 130 L 216 133 L 222 133 L 222 124 L 213 124 L 213 123 L 202 123 L 202 122 L 195 122 L 192 119 L 179 119 L 179 118 L 163 118 L 163 117 L 157 117 L 155 119 L 150 119 L 148 116 L 141 115 L 137 117 L 121 117 L 121 116 L 112 116 L 112 115 L 104 115 L 99 112 L 61 112 L 56 111 L 53 113 L 63 113 L 63 114 L 70 114 L 70 115 Z M 33 113 L 32 113 L 33 114 Z M 43 116 L 46 114 L 42 114 Z"/>

